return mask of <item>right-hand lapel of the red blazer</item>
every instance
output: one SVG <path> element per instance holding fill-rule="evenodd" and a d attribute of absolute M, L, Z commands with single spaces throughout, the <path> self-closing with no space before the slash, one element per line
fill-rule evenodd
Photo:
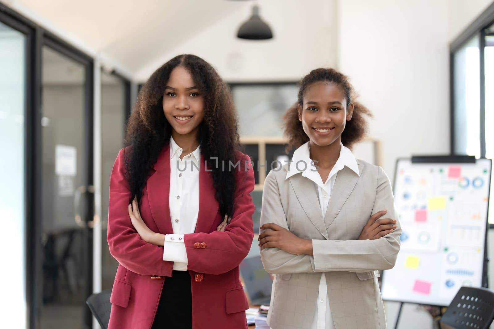
<path fill-rule="evenodd" d="M 199 214 L 197 216 L 196 233 L 209 233 L 219 212 L 219 204 L 214 197 L 216 190 L 210 169 L 206 171 L 206 161 L 201 154 L 201 171 L 199 172 Z M 219 224 L 219 223 L 218 223 Z"/>

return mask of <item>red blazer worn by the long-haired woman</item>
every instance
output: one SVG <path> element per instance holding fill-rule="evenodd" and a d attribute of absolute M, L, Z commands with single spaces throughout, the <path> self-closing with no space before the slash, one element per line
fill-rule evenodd
<path fill-rule="evenodd" d="M 162 234 L 173 233 L 168 207 L 170 151 L 165 146 L 148 178 L 140 213 L 148 227 Z M 254 188 L 252 168 L 245 171 L 247 155 L 235 170 L 237 191 L 234 214 L 224 232 L 216 231 L 219 213 L 210 171 L 201 156 L 199 174 L 199 215 L 195 233 L 185 234 L 192 285 L 194 329 L 247 328 L 247 299 L 239 279 L 239 264 L 247 256 L 253 239 Z M 110 179 L 108 245 L 120 263 L 110 302 L 109 329 L 150 329 L 160 300 L 163 283 L 171 276 L 173 262 L 163 260 L 163 247 L 146 243 L 128 216 L 130 191 L 124 179 L 124 149 L 120 150 Z M 161 279 L 151 279 L 152 275 Z"/>

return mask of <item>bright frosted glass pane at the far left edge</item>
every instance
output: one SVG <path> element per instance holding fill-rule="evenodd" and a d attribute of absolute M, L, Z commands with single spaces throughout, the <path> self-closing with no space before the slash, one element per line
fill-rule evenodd
<path fill-rule="evenodd" d="M 8 296 L 0 301 L 4 328 L 25 328 L 27 322 L 26 50 L 27 35 L 0 22 L 0 210 L 6 232 L 0 257 L 8 268 L 0 272 Z"/>

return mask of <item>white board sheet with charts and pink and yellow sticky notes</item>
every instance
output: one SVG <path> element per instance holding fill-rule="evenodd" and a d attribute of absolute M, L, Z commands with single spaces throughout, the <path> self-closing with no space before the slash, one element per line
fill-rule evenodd
<path fill-rule="evenodd" d="M 383 299 L 447 306 L 461 286 L 482 285 L 491 167 L 398 161 L 401 250 L 384 271 Z"/>

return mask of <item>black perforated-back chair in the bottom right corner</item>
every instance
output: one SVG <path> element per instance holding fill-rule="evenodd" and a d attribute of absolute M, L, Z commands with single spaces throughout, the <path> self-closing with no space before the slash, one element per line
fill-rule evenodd
<path fill-rule="evenodd" d="M 442 329 L 488 329 L 494 319 L 494 291 L 461 287 L 441 317 Z"/>

